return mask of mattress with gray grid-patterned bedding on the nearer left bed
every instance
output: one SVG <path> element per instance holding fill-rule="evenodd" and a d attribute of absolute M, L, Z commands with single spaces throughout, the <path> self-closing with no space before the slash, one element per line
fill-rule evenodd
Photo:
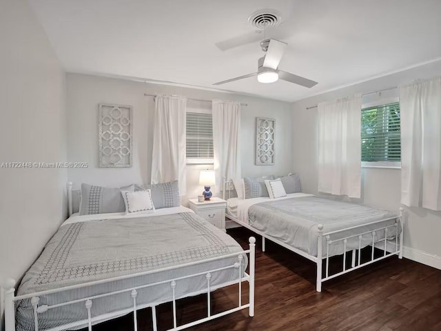
<path fill-rule="evenodd" d="M 167 209 L 174 209 L 174 212 L 161 211 L 161 215 L 155 212 L 135 217 L 123 217 L 121 214 L 111 214 L 106 217 L 103 215 L 71 217 L 54 234 L 39 259 L 25 274 L 17 290 L 17 296 L 202 261 L 187 267 L 40 297 L 39 305 L 54 305 L 205 272 L 238 261 L 237 257 L 228 257 L 203 262 L 205 259 L 222 257 L 243 250 L 232 237 L 187 208 Z M 246 254 L 243 256 L 242 270 L 245 270 L 247 257 Z M 211 279 L 212 288 L 235 281 L 238 276 L 236 268 L 214 272 Z M 176 297 L 196 294 L 206 287 L 205 275 L 176 281 Z M 138 291 L 139 306 L 171 300 L 172 289 L 168 282 Z M 34 330 L 30 299 L 17 301 L 16 305 L 17 330 Z M 110 298 L 94 299 L 92 317 L 117 312 L 132 305 L 130 292 Z M 83 319 L 87 319 L 84 303 L 74 303 L 39 314 L 39 330 L 47 330 Z"/>

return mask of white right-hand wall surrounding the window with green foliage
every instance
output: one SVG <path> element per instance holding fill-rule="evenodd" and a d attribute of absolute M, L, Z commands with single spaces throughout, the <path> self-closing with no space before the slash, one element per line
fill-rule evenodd
<path fill-rule="evenodd" d="M 396 87 L 415 79 L 441 74 L 441 61 L 429 63 L 354 86 L 335 90 L 316 97 L 296 101 L 293 110 L 294 170 L 299 172 L 305 192 L 317 193 L 318 188 L 318 115 L 317 108 L 307 110 L 322 101 L 346 97 L 360 92 L 366 94 Z M 371 94 L 369 101 L 389 97 L 394 91 Z M 362 199 L 367 205 L 398 211 L 400 208 L 400 170 L 362 169 Z M 406 208 L 409 213 L 404 232 L 404 256 L 441 268 L 441 212 L 422 208 Z M 424 260 L 424 261 L 423 261 Z"/>

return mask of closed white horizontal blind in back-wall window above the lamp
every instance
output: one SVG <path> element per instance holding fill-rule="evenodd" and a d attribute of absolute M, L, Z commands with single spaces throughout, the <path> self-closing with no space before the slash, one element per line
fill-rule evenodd
<path fill-rule="evenodd" d="M 187 112 L 187 159 L 213 158 L 212 114 Z"/>

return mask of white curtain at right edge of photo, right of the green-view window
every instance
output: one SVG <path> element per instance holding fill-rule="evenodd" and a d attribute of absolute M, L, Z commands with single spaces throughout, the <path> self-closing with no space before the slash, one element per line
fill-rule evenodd
<path fill-rule="evenodd" d="M 401 203 L 441 210 L 441 77 L 400 86 Z"/>

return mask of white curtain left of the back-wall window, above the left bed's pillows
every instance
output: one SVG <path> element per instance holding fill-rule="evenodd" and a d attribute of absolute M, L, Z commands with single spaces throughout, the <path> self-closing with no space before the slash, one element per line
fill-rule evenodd
<path fill-rule="evenodd" d="M 187 99 L 158 95 L 155 98 L 152 184 L 179 181 L 179 192 L 187 191 L 186 174 Z"/>

